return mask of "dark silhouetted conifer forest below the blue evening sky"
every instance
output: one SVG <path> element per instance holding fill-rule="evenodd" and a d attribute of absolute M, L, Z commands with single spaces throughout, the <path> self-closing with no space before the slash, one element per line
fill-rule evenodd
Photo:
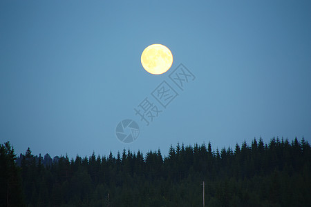
<path fill-rule="evenodd" d="M 253 139 L 69 158 L 0 148 L 0 206 L 311 206 L 311 150 L 304 138 Z"/>

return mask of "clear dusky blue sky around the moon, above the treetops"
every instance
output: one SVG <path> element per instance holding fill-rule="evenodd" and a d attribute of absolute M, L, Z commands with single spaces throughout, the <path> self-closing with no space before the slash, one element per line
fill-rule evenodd
<path fill-rule="evenodd" d="M 173 54 L 163 75 L 140 63 L 153 43 Z M 183 91 L 180 63 L 196 77 Z M 146 126 L 133 109 L 162 81 L 178 96 Z M 0 1 L 0 141 L 18 155 L 311 142 L 310 90 L 311 1 Z"/>

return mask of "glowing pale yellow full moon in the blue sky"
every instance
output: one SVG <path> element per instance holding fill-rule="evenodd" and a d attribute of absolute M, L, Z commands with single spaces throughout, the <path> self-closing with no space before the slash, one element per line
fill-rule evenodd
<path fill-rule="evenodd" d="M 151 74 L 160 75 L 171 68 L 173 55 L 166 46 L 153 44 L 144 49 L 141 61 L 144 70 Z"/>

